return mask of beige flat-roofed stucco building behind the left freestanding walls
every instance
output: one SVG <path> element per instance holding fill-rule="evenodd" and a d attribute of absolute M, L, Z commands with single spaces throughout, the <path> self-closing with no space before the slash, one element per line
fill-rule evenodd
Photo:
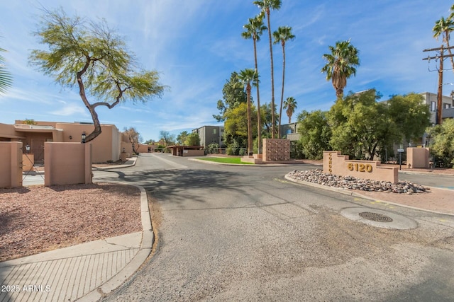
<path fill-rule="evenodd" d="M 15 124 L 0 124 L 0 141 L 21 141 L 23 152 L 29 146 L 35 163 L 44 161 L 44 143 L 53 142 L 82 142 L 82 133 L 90 134 L 93 124 L 83 122 L 35 122 L 24 124 L 16 120 Z M 92 162 L 103 163 L 118 161 L 121 153 L 121 132 L 114 124 L 102 124 L 101 134 L 92 143 Z"/>

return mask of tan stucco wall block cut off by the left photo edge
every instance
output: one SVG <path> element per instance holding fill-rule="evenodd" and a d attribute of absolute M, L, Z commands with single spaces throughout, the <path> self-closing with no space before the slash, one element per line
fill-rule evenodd
<path fill-rule="evenodd" d="M 22 143 L 0 142 L 0 187 L 22 186 Z"/>

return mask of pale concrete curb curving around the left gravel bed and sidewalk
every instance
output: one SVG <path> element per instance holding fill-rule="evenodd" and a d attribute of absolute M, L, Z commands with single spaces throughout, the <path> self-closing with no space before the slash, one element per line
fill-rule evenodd
<path fill-rule="evenodd" d="M 148 258 L 155 241 L 155 234 L 153 233 L 153 226 L 151 224 L 150 208 L 148 207 L 148 198 L 145 188 L 140 185 L 133 185 L 126 182 L 118 182 L 123 185 L 132 185 L 140 190 L 140 213 L 142 219 L 142 242 L 140 243 L 139 252 L 133 257 L 133 260 L 128 263 L 118 274 L 106 281 L 106 283 L 94 289 L 89 294 L 77 299 L 80 302 L 99 301 L 99 299 L 110 294 L 115 289 L 131 278 L 139 269 L 143 262 Z"/>

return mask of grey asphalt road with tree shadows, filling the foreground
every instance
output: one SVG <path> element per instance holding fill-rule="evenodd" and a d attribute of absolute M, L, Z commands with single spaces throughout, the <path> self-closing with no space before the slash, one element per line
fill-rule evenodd
<path fill-rule="evenodd" d="M 454 217 L 295 184 L 311 166 L 232 166 L 143 154 L 95 181 L 153 197 L 153 257 L 106 301 L 453 301 Z M 408 229 L 341 215 L 362 207 Z"/>

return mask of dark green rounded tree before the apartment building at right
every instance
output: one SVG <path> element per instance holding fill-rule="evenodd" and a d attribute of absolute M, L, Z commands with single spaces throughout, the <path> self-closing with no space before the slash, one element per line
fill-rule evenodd
<path fill-rule="evenodd" d="M 420 139 L 431 124 L 431 112 L 417 93 L 393 95 L 387 101 L 388 114 L 397 127 L 400 142 Z"/>

